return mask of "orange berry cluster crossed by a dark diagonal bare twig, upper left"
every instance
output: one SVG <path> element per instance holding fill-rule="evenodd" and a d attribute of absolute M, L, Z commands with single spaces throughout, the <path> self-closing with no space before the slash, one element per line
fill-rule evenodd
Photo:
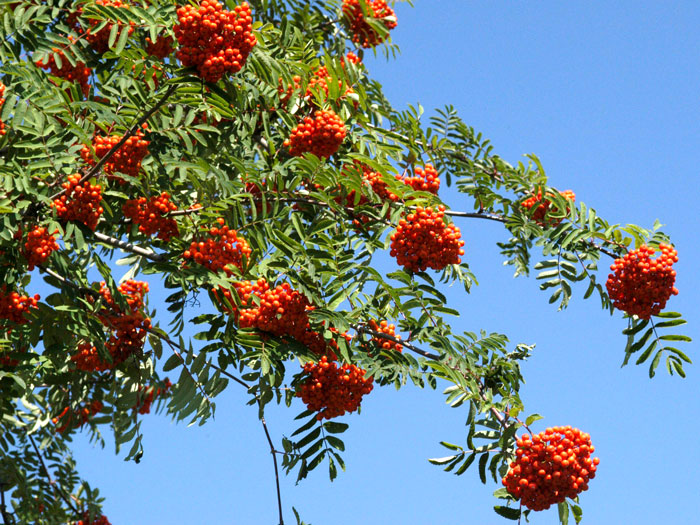
<path fill-rule="evenodd" d="M 143 129 L 146 129 L 146 127 L 146 124 L 144 124 Z M 144 134 L 141 130 L 138 130 L 136 133 L 130 136 L 126 142 L 114 152 L 109 160 L 104 163 L 102 166 L 104 172 L 108 175 L 119 172 L 136 177 L 141 170 L 141 161 L 146 155 L 148 155 L 148 145 L 150 144 L 150 142 L 144 140 L 143 137 Z M 122 140 L 122 138 L 123 135 L 110 135 L 109 137 L 96 136 L 92 140 L 92 147 L 95 149 L 95 156 L 98 159 L 101 159 L 107 154 L 108 151 L 115 147 L 119 141 Z M 92 157 L 89 146 L 83 146 L 83 148 L 80 150 L 80 156 L 91 166 L 95 164 L 95 160 Z M 123 179 L 119 177 L 114 178 L 124 182 Z"/>

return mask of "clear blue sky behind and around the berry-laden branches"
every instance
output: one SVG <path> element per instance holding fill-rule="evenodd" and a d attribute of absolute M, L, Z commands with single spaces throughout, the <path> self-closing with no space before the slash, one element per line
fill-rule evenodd
<path fill-rule="evenodd" d="M 680 258 L 680 294 L 669 308 L 690 321 L 685 333 L 696 342 L 687 350 L 700 364 L 700 4 L 417 0 L 415 8 L 399 5 L 397 16 L 392 37 L 402 54 L 366 60 L 396 107 L 453 104 L 502 157 L 539 155 L 552 185 L 572 189 L 609 221 L 667 224 Z M 471 204 L 447 188 L 441 195 L 454 208 Z M 621 369 L 620 314 L 581 301 L 583 290 L 557 312 L 534 279 L 514 280 L 501 265 L 500 225 L 459 226 L 481 286 L 469 296 L 449 291 L 462 313 L 454 329 L 537 343 L 522 389 L 527 411 L 545 415 L 534 429 L 577 426 L 601 458 L 581 498 L 584 523 L 697 523 L 697 365 L 685 380 Z M 111 522 L 276 524 L 270 454 L 246 399 L 231 386 L 204 427 L 146 417 L 139 465 L 78 438 L 79 468 L 108 498 Z M 440 440 L 466 438 L 465 413 L 447 408 L 440 392 L 375 389 L 362 408 L 344 419 L 347 472 L 332 484 L 324 470 L 299 486 L 283 480 L 289 523 L 292 505 L 313 525 L 507 523 L 492 511 L 496 485 L 426 461 L 446 455 Z M 301 409 L 269 410 L 278 443 Z M 556 522 L 554 509 L 531 519 Z"/>

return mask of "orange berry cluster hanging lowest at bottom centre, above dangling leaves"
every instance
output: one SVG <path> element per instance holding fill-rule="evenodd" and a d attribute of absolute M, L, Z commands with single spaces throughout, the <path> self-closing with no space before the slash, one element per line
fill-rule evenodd
<path fill-rule="evenodd" d="M 326 356 L 318 363 L 304 365 L 307 378 L 299 386 L 297 397 L 309 410 L 318 412 L 316 419 L 332 419 L 354 412 L 362 402 L 362 396 L 373 388 L 372 377 L 365 377 L 365 370 L 355 365 L 329 361 Z"/>

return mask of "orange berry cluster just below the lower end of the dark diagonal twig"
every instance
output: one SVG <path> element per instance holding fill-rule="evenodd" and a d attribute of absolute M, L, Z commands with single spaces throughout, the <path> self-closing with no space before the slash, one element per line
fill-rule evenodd
<path fill-rule="evenodd" d="M 64 193 L 51 203 L 56 214 L 64 221 L 82 222 L 95 231 L 97 222 L 104 211 L 100 206 L 102 187 L 89 182 L 80 182 L 80 175 L 68 175 L 68 182 L 62 185 Z"/>

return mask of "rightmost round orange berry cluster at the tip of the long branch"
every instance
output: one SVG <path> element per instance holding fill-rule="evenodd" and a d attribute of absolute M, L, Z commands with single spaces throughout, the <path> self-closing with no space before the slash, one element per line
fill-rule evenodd
<path fill-rule="evenodd" d="M 640 319 L 649 319 L 666 307 L 672 295 L 678 295 L 673 269 L 673 263 L 678 262 L 678 252 L 667 244 L 660 244 L 659 250 L 661 255 L 652 260 L 650 257 L 656 250 L 643 244 L 621 259 L 615 259 L 610 266 L 613 273 L 606 283 L 615 308 Z"/>

